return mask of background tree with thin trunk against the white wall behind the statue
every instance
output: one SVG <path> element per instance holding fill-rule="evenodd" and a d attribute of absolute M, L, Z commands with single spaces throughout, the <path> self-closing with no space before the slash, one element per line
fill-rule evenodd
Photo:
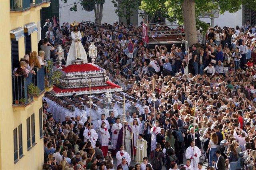
<path fill-rule="evenodd" d="M 64 3 L 67 0 L 62 0 Z M 128 18 L 133 15 L 133 10 L 138 9 L 140 6 L 140 0 L 111 0 L 115 8 L 115 13 L 119 17 Z M 77 4 L 81 6 L 93 6 L 95 14 L 95 23 L 100 23 L 102 20 L 102 12 L 105 0 L 80 0 L 79 2 L 73 2 L 74 5 L 70 8 L 71 11 L 77 11 Z"/>

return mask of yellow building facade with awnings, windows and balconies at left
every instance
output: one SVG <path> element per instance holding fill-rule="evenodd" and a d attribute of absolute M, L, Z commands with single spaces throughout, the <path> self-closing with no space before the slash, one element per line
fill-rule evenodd
<path fill-rule="evenodd" d="M 50 6 L 48 0 L 1 0 L 0 169 L 2 170 L 36 170 L 42 169 L 44 163 L 42 129 L 44 84 L 36 82 L 42 87 L 40 95 L 28 100 L 27 79 L 12 76 L 12 70 L 17 66 L 19 59 L 24 57 L 26 51 L 38 52 L 40 10 L 48 6 Z M 36 76 L 36 81 L 44 79 L 40 77 L 44 75 Z M 15 84 L 16 80 L 20 82 Z M 17 94 L 21 96 L 17 97 Z"/>

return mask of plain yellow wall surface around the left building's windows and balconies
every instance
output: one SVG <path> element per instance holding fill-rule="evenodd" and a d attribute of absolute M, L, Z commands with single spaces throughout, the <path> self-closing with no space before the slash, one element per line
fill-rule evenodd
<path fill-rule="evenodd" d="M 10 48 L 10 30 L 23 25 L 40 21 L 38 6 L 27 12 L 10 12 L 10 0 L 0 0 L 0 169 L 1 170 L 37 170 L 41 169 L 44 160 L 43 139 L 39 137 L 39 108 L 42 107 L 42 95 L 32 104 L 23 107 L 12 106 L 12 66 Z M 40 29 L 40 28 L 38 28 Z M 37 32 L 32 33 L 32 51 L 37 51 Z M 19 57 L 25 54 L 24 38 L 19 39 Z M 36 145 L 27 151 L 26 119 L 35 113 Z M 14 164 L 13 130 L 22 123 L 23 154 Z M 31 123 L 31 118 L 30 118 Z M 31 133 L 31 131 L 30 131 Z M 32 144 L 31 144 L 32 145 Z M 19 157 L 19 156 L 18 156 Z"/>

